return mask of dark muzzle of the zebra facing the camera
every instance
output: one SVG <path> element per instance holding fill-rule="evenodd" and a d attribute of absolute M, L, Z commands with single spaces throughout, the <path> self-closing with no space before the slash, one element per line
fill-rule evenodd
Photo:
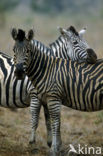
<path fill-rule="evenodd" d="M 18 80 L 22 80 L 25 77 L 25 72 L 24 72 L 22 63 L 16 65 L 14 75 L 16 76 Z"/>

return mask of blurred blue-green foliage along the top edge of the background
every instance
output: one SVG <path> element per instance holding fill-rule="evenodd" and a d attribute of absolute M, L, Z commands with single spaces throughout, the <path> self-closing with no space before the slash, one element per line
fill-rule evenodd
<path fill-rule="evenodd" d="M 92 12 L 93 13 L 103 6 L 102 0 L 31 0 L 31 7 L 38 12 L 61 12 L 69 10 L 72 13 L 76 12 Z"/>

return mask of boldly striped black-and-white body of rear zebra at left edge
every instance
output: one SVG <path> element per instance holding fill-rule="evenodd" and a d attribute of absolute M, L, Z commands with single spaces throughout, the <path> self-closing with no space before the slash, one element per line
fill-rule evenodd
<path fill-rule="evenodd" d="M 30 91 L 33 88 L 27 76 L 22 81 L 15 78 L 13 59 L 0 52 L 0 106 L 30 106 Z"/>

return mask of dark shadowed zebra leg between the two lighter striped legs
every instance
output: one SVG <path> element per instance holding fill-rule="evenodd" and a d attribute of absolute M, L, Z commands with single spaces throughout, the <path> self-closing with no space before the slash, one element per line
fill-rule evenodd
<path fill-rule="evenodd" d="M 50 114 L 49 114 L 47 104 L 43 104 L 43 107 L 44 107 L 45 123 L 46 123 L 46 128 L 47 128 L 47 144 L 49 147 L 51 147 L 52 131 L 51 131 Z"/>

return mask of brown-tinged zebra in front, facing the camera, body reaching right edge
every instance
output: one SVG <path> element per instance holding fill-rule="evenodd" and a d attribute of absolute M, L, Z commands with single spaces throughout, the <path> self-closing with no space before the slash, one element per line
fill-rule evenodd
<path fill-rule="evenodd" d="M 81 63 L 48 56 L 43 46 L 32 44 L 33 30 L 27 37 L 23 30 L 11 33 L 14 44 L 16 76 L 27 74 L 37 89 L 38 98 L 47 103 L 52 128 L 52 156 L 61 146 L 60 112 L 65 105 L 80 111 L 103 109 L 103 60 L 95 64 Z M 50 52 L 51 53 L 51 49 Z M 20 72 L 21 76 L 20 76 Z"/>

